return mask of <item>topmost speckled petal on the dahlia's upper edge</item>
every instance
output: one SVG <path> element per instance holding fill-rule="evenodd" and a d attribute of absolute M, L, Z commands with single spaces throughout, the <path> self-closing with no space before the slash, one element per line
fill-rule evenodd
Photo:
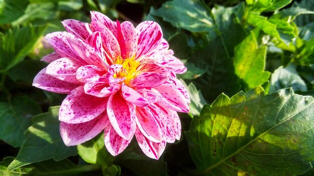
<path fill-rule="evenodd" d="M 114 36 L 117 36 L 117 24 L 116 22 L 112 21 L 106 15 L 98 12 L 98 11 L 91 11 L 91 20 L 98 21 L 101 24 L 105 25 Z"/>

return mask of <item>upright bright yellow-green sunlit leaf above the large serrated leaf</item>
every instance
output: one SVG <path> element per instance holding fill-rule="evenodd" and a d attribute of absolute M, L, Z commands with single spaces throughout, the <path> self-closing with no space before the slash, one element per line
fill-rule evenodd
<path fill-rule="evenodd" d="M 264 84 L 270 75 L 264 71 L 266 46 L 257 46 L 251 32 L 234 48 L 234 68 L 245 90 Z"/>

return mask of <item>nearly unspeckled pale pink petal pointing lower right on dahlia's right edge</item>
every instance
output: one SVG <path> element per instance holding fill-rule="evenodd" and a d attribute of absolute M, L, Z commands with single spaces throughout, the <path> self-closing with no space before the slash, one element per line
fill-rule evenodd
<path fill-rule="evenodd" d="M 180 112 L 189 112 L 189 104 L 186 97 L 174 87 L 167 85 L 160 85 L 154 87 L 162 96 L 160 100 L 167 105 L 168 108 Z"/>

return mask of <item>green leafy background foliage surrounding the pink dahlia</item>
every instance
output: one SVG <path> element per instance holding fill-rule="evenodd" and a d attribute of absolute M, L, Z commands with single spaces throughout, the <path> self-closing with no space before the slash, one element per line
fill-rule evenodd
<path fill-rule="evenodd" d="M 191 113 L 159 160 L 102 134 L 66 147 L 65 95 L 32 87 L 43 36 L 90 10 L 158 22 L 188 67 Z M 0 175 L 313 175 L 313 95 L 313 0 L 0 0 Z"/>

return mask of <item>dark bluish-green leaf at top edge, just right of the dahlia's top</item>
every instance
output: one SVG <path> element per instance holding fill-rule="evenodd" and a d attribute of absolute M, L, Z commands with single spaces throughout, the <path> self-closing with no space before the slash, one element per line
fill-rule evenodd
<path fill-rule="evenodd" d="M 192 32 L 212 31 L 216 28 L 209 9 L 200 0 L 168 1 L 152 15 Z"/>

